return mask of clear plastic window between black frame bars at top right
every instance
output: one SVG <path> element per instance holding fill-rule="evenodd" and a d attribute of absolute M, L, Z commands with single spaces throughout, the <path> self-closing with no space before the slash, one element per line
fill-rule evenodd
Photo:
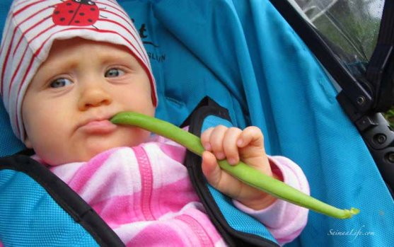
<path fill-rule="evenodd" d="M 384 0 L 289 0 L 354 76 L 364 74 L 378 38 Z"/>

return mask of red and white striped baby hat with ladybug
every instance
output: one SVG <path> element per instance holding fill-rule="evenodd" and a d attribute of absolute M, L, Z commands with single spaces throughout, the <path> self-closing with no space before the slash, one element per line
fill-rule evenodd
<path fill-rule="evenodd" d="M 23 96 L 54 40 L 85 38 L 124 45 L 156 84 L 146 50 L 127 13 L 115 0 L 15 0 L 0 47 L 0 93 L 16 136 L 23 140 Z"/>

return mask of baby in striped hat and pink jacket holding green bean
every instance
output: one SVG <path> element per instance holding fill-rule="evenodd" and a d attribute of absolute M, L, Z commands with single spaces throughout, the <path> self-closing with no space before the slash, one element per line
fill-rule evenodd
<path fill-rule="evenodd" d="M 115 0 L 16 0 L 4 30 L 1 96 L 34 159 L 81 195 L 127 246 L 226 246 L 192 188 L 185 148 L 110 122 L 122 111 L 153 116 L 158 103 L 146 51 Z M 217 126 L 201 139 L 208 183 L 279 243 L 300 234 L 307 209 L 245 185 L 216 163 L 241 159 L 309 193 L 295 163 L 265 154 L 260 129 Z"/>

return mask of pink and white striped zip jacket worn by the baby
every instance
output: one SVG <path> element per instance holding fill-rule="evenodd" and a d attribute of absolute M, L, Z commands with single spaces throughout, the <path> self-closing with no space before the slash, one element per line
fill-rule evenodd
<path fill-rule="evenodd" d="M 126 246 L 226 246 L 192 188 L 184 158 L 183 147 L 156 137 L 155 142 L 110 149 L 88 162 L 50 170 L 81 195 Z M 281 156 L 270 161 L 285 183 L 309 193 L 299 166 Z M 260 211 L 233 202 L 265 224 L 281 244 L 296 238 L 306 225 L 308 210 L 282 200 Z"/>

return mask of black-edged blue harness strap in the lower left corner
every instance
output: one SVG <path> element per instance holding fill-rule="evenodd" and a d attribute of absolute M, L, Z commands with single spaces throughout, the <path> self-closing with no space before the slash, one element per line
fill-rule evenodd
<path fill-rule="evenodd" d="M 45 166 L 29 156 L 1 162 L 0 246 L 122 246 L 103 219 Z"/>

